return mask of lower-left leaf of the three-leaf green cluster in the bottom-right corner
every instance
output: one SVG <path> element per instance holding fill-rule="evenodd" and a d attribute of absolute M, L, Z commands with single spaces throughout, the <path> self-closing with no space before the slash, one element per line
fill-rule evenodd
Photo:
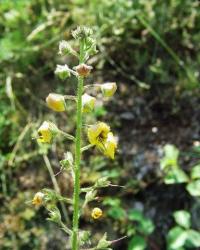
<path fill-rule="evenodd" d="M 187 231 L 185 231 L 181 227 L 172 228 L 167 235 L 167 243 L 169 249 L 176 250 L 177 248 L 184 246 L 186 239 Z"/>

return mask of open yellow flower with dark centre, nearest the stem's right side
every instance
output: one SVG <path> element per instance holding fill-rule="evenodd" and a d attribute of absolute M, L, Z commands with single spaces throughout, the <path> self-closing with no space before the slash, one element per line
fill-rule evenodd
<path fill-rule="evenodd" d="M 104 144 L 107 140 L 110 127 L 104 122 L 98 122 L 88 129 L 88 139 L 92 145 L 96 145 L 104 150 Z"/>

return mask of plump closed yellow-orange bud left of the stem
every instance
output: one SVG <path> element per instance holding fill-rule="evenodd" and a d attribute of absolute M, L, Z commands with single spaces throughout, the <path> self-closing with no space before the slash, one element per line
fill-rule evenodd
<path fill-rule="evenodd" d="M 65 98 L 63 95 L 50 93 L 46 98 L 47 106 L 57 112 L 65 111 Z"/>

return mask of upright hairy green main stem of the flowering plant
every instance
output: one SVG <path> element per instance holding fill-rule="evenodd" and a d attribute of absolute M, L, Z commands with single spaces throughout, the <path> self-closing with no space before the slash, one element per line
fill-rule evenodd
<path fill-rule="evenodd" d="M 79 63 L 84 61 L 84 40 L 80 40 Z M 73 228 L 72 228 L 72 250 L 79 249 L 79 194 L 80 194 L 80 161 L 81 161 L 81 132 L 82 132 L 82 93 L 83 77 L 78 77 L 77 110 L 76 110 L 76 139 L 75 139 L 75 166 L 74 166 L 74 195 L 73 195 Z"/>

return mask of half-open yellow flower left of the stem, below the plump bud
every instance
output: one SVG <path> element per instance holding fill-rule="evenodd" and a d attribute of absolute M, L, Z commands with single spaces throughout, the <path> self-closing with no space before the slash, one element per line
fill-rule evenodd
<path fill-rule="evenodd" d="M 54 123 L 44 121 L 38 129 L 39 138 L 37 141 L 41 143 L 51 143 L 57 132 L 58 128 Z"/>

